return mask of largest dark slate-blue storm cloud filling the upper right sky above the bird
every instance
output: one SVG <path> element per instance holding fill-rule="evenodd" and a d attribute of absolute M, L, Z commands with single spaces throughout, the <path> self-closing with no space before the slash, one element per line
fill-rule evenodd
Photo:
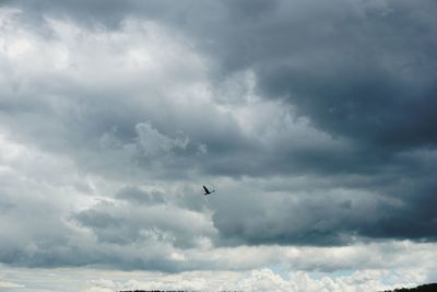
<path fill-rule="evenodd" d="M 283 98 L 330 135 L 358 140 L 345 167 L 357 165 L 353 155 L 389 159 L 393 151 L 436 143 L 432 1 L 22 3 L 103 24 L 135 14 L 174 25 L 196 37 L 221 75 L 253 70 L 264 97 Z"/>

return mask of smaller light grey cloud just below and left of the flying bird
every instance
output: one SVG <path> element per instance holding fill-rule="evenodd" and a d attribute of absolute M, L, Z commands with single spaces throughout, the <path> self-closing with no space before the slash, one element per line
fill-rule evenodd
<path fill-rule="evenodd" d="M 129 194 L 134 194 L 128 190 Z M 123 190 L 126 197 L 127 190 Z M 163 202 L 138 205 L 135 201 L 102 202 L 75 215 L 103 243 L 170 243 L 176 247 L 193 247 L 201 237 L 214 235 L 214 229 L 201 213 Z"/>

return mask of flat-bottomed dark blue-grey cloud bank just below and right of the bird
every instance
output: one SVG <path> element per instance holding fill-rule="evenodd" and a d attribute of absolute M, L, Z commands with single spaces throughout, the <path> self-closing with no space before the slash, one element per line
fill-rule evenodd
<path fill-rule="evenodd" d="M 436 185 L 428 178 L 385 177 L 382 186 L 370 179 L 362 188 L 344 188 L 347 183 L 341 177 L 331 177 L 324 187 L 311 186 L 317 179 L 304 179 L 303 189 L 290 185 L 282 191 L 228 190 L 214 206 L 214 226 L 222 234 L 218 244 L 344 245 L 368 238 L 437 238 L 432 207 Z M 359 179 L 354 180 L 355 185 Z"/>

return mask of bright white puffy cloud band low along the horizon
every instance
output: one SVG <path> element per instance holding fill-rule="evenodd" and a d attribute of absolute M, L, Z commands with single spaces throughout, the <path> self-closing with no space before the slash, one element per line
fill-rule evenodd
<path fill-rule="evenodd" d="M 315 275 L 307 271 L 283 273 L 271 269 L 248 271 L 187 271 L 157 273 L 97 269 L 16 269 L 0 272 L 12 277 L 14 287 L 33 291 L 35 283 L 44 291 L 107 292 L 120 290 L 188 291 L 291 291 L 291 292 L 367 292 L 415 287 L 426 279 L 422 269 L 364 269 L 347 275 Z M 25 287 L 25 288 L 24 288 Z"/>

